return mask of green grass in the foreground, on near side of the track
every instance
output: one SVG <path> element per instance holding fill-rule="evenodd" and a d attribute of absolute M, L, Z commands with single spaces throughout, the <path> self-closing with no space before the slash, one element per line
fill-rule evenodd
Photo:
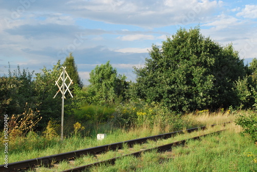
<path fill-rule="evenodd" d="M 189 141 L 166 154 L 153 150 L 139 159 L 125 157 L 113 166 L 101 165 L 90 171 L 256 171 L 257 163 L 247 157 L 247 152 L 257 155 L 252 140 L 229 130 Z"/>

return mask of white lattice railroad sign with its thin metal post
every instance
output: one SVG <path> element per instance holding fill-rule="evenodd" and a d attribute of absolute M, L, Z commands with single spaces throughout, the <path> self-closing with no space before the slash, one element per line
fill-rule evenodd
<path fill-rule="evenodd" d="M 68 91 L 70 96 L 73 98 L 73 95 L 71 94 L 70 90 L 69 90 L 69 86 L 72 84 L 72 80 L 69 78 L 68 73 L 66 72 L 66 67 L 63 67 L 63 71 L 60 74 L 60 77 L 58 78 L 58 80 L 56 81 L 56 85 L 58 86 L 59 90 L 57 91 L 56 95 L 58 94 L 58 92 L 61 92 L 62 94 L 62 122 L 61 122 L 61 140 L 63 140 L 63 114 L 64 114 L 64 99 L 66 99 L 65 97 L 65 93 Z M 66 77 L 65 77 L 66 74 Z M 66 80 L 68 79 L 69 84 L 66 84 Z M 62 81 L 62 85 L 59 85 L 59 81 Z M 54 95 L 53 99 L 56 98 L 56 95 Z"/>

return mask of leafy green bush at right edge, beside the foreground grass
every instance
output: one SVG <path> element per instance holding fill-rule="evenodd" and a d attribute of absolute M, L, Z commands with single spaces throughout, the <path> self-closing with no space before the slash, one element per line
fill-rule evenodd
<path fill-rule="evenodd" d="M 257 113 L 250 111 L 249 113 L 241 114 L 235 120 L 237 125 L 243 127 L 243 133 L 251 136 L 254 142 L 257 142 Z"/>

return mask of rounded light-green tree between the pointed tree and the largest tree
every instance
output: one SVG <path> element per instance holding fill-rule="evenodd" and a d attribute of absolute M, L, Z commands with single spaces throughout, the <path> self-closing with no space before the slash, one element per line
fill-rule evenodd
<path fill-rule="evenodd" d="M 90 73 L 90 88 L 95 97 L 100 101 L 113 103 L 119 96 L 125 96 L 127 82 L 125 75 L 118 75 L 117 70 L 109 61 L 101 66 L 96 66 Z"/>

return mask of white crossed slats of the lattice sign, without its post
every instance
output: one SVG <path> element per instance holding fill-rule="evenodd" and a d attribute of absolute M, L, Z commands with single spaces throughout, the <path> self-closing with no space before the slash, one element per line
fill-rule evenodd
<path fill-rule="evenodd" d="M 70 96 L 73 98 L 73 95 L 71 94 L 71 92 L 70 92 L 70 90 L 69 90 L 69 86 L 70 86 L 70 84 L 72 84 L 72 80 L 69 78 L 69 75 L 68 75 L 68 73 L 66 72 L 65 68 L 66 68 L 66 67 L 64 67 L 64 70 L 62 71 L 62 73 L 60 74 L 60 77 L 59 77 L 58 80 L 56 81 L 56 85 L 57 85 L 58 88 L 59 88 L 59 90 L 57 91 L 56 95 L 57 95 L 58 92 L 60 91 L 60 92 L 62 93 L 62 96 L 64 96 L 64 98 L 66 99 L 65 93 L 66 93 L 67 91 L 69 91 Z M 65 78 L 65 79 L 63 79 L 63 72 L 65 72 L 65 73 L 64 73 L 64 78 Z M 66 77 L 65 77 L 65 74 L 66 74 Z M 67 84 L 65 83 L 67 79 L 69 79 L 69 81 L 70 81 L 70 82 L 69 82 L 69 85 L 67 85 Z M 59 85 L 59 81 L 60 81 L 60 80 L 63 81 L 63 83 L 62 83 L 61 86 Z M 64 92 L 63 92 L 63 89 L 62 89 L 63 86 L 64 86 Z M 54 95 L 53 99 L 56 97 L 56 95 Z"/>

